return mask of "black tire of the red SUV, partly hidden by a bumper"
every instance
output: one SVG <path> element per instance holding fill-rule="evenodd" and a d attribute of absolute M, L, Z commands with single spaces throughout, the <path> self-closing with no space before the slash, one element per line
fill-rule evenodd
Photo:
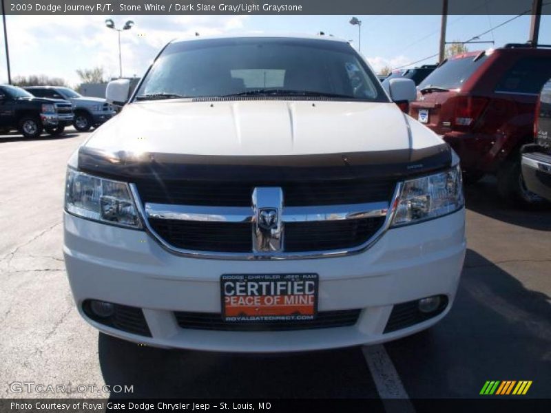
<path fill-rule="evenodd" d="M 504 200 L 527 209 L 539 208 L 545 200 L 528 190 L 522 176 L 520 156 L 501 165 L 497 173 L 497 191 Z"/>

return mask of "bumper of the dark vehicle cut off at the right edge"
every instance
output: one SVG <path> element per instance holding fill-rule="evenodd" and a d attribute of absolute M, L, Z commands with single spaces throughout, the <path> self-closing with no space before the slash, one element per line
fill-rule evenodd
<path fill-rule="evenodd" d="M 551 201 L 551 155 L 537 145 L 522 148 L 522 176 L 529 191 Z"/>

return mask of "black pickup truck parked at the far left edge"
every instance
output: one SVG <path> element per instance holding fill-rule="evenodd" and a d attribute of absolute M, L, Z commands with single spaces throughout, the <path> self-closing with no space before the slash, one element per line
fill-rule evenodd
<path fill-rule="evenodd" d="M 38 138 L 43 130 L 59 135 L 73 118 L 67 100 L 35 98 L 21 87 L 0 85 L 1 133 L 17 129 L 25 138 Z"/>

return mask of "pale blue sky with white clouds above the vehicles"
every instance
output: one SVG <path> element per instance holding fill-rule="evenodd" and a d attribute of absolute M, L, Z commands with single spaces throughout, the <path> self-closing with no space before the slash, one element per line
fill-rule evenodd
<path fill-rule="evenodd" d="M 545 6 L 544 6 L 545 7 Z M 550 6 L 551 7 L 551 6 Z M 441 17 L 356 16 L 362 21 L 361 52 L 375 72 L 401 67 L 438 53 Z M 465 41 L 514 16 L 448 16 L 447 41 Z M 351 16 L 8 16 L 12 78 L 45 74 L 78 85 L 77 69 L 103 67 L 107 78 L 118 76 L 118 41 L 114 30 L 127 20 L 134 28 L 121 34 L 123 76 L 141 76 L 154 56 L 174 38 L 216 34 L 293 33 L 320 31 L 351 41 L 357 47 L 357 26 Z M 522 16 L 481 36 L 494 44 L 470 44 L 469 50 L 528 40 L 530 16 Z M 1 36 L 1 32 L 0 32 Z M 0 41 L 0 43 L 3 43 Z M 551 44 L 551 16 L 541 18 L 539 43 Z M 0 44 L 0 81 L 6 82 L 6 54 Z M 435 63 L 436 57 L 417 63 Z"/>

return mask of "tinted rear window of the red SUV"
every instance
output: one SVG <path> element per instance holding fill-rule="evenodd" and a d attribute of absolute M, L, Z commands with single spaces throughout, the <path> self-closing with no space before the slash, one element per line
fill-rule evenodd
<path fill-rule="evenodd" d="M 459 89 L 487 58 L 488 56 L 484 55 L 477 61 L 475 56 L 448 60 L 429 74 L 418 88 L 420 90 L 428 86 L 437 86 L 444 89 Z"/>

